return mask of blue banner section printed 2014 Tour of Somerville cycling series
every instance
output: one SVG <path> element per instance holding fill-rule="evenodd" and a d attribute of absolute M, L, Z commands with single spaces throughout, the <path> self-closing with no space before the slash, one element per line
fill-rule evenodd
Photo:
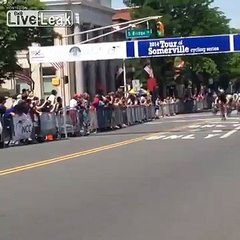
<path fill-rule="evenodd" d="M 127 42 L 128 53 L 135 50 L 135 58 L 216 54 L 230 52 L 230 37 L 220 35 L 139 40 L 137 46 L 138 49 L 134 49 L 133 44 Z M 128 54 L 127 57 L 133 56 Z"/>

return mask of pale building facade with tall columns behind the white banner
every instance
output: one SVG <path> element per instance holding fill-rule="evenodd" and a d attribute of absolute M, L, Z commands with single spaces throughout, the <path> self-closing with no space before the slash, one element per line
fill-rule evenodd
<path fill-rule="evenodd" d="M 74 14 L 75 24 L 71 28 L 56 28 L 55 32 L 61 35 L 69 35 L 79 33 L 101 26 L 112 24 L 112 17 L 115 10 L 111 8 L 111 0 L 42 0 L 48 10 L 71 10 Z M 109 29 L 107 32 L 111 31 Z M 82 41 L 95 36 L 104 34 L 104 31 L 95 31 L 89 34 L 75 35 L 73 37 L 64 38 L 63 45 L 80 44 Z M 113 35 L 108 35 L 91 41 L 89 43 L 113 41 Z M 53 45 L 59 45 L 59 40 L 55 39 Z M 18 62 L 22 68 L 29 68 L 28 51 L 18 53 Z M 54 54 L 54 53 L 53 53 Z M 93 96 L 98 90 L 104 93 L 115 90 L 115 71 L 119 61 L 90 61 L 90 62 L 74 62 L 64 63 L 64 75 L 68 77 L 65 84 L 65 95 L 67 101 L 75 93 L 88 92 Z M 52 78 L 59 75 L 50 64 L 32 64 L 30 65 L 32 78 L 35 82 L 34 94 L 41 98 L 46 98 L 52 89 L 56 89 L 59 95 L 62 95 L 60 87 L 52 86 Z M 8 88 L 13 86 L 7 83 Z M 11 83 L 11 85 L 13 85 Z M 21 91 L 23 88 L 29 88 L 26 84 L 17 82 L 16 90 Z"/>

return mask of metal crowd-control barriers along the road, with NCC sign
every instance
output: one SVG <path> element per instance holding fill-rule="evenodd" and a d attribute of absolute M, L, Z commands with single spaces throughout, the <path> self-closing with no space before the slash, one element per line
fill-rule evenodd
<path fill-rule="evenodd" d="M 66 129 L 69 137 L 85 136 L 144 122 L 161 116 L 173 116 L 203 110 L 204 101 L 164 102 L 159 107 L 100 106 L 97 109 L 67 110 Z M 21 114 L 0 119 L 0 147 L 34 141 L 35 143 L 61 139 L 64 136 L 62 113 Z"/>

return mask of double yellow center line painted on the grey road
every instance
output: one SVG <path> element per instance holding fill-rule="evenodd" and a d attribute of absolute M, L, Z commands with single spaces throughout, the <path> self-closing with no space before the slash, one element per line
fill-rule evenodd
<path fill-rule="evenodd" d="M 168 129 L 167 131 L 168 132 L 180 131 L 180 130 L 183 130 L 183 129 L 187 128 L 189 125 L 190 124 L 187 124 L 187 125 L 184 125 L 184 126 L 181 126 L 181 127 L 177 127 L 177 128 Z M 102 152 L 102 151 L 105 151 L 105 150 L 110 150 L 110 149 L 114 149 L 114 148 L 117 148 L 117 147 L 130 145 L 130 144 L 133 144 L 133 143 L 143 141 L 148 137 L 156 136 L 159 133 L 160 132 L 153 133 L 153 134 L 148 134 L 148 135 L 145 135 L 145 136 L 142 136 L 142 137 L 133 138 L 133 139 L 129 139 L 129 140 L 114 143 L 114 144 L 109 144 L 109 145 L 105 145 L 105 146 L 102 146 L 102 147 L 92 148 L 92 149 L 89 149 L 89 150 L 83 150 L 83 151 L 80 151 L 80 152 L 76 152 L 76 153 L 72 153 L 72 154 L 68 154 L 68 155 L 64 155 L 64 156 L 59 156 L 59 157 L 55 157 L 55 158 L 51 158 L 51 159 L 47 159 L 47 160 L 40 160 L 40 161 L 37 161 L 35 163 L 30 163 L 30 164 L 25 164 L 25 165 L 21 165 L 21 166 L 17 166 L 17 167 L 12 167 L 12 168 L 8 168 L 8 169 L 0 170 L 0 176 L 9 175 L 9 174 L 17 173 L 17 172 L 22 172 L 22 171 L 26 171 L 26 170 L 30 170 L 30 169 L 34 169 L 34 168 L 38 168 L 38 167 L 43 167 L 43 166 L 50 165 L 50 164 L 53 164 L 53 163 L 72 160 L 72 159 L 75 159 L 77 157 L 82 157 L 82 156 Z"/>

